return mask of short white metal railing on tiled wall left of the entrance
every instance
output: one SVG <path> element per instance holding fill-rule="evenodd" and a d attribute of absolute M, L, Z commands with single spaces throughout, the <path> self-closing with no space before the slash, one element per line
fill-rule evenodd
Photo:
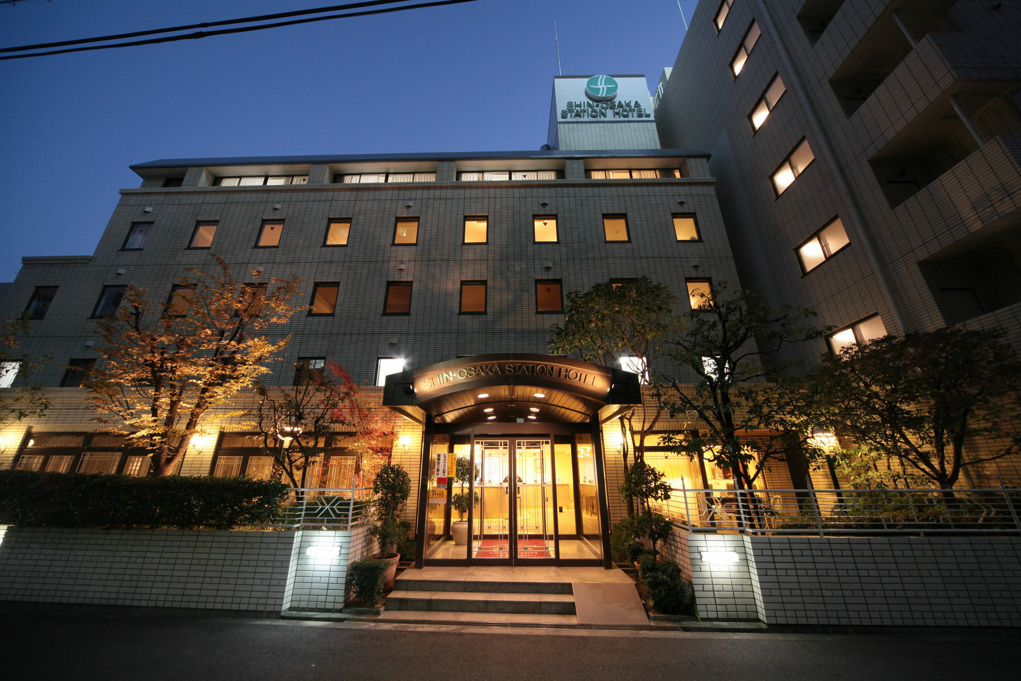
<path fill-rule="evenodd" d="M 291 490 L 277 523 L 278 530 L 350 530 L 376 517 L 372 488 Z"/>

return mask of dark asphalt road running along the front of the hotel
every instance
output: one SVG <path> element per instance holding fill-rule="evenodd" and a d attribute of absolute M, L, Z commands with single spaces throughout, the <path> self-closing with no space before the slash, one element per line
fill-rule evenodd
<path fill-rule="evenodd" d="M 540 633 L 536 633 L 536 632 Z M 1018 678 L 1021 635 L 470 631 L 214 619 L 118 608 L 0 610 L 0 678 Z"/>

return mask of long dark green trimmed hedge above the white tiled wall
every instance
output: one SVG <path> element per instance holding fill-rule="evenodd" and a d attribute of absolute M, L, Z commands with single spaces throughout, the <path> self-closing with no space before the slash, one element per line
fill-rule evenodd
<path fill-rule="evenodd" d="M 0 470 L 0 525 L 230 530 L 275 521 L 288 490 L 246 478 Z"/>

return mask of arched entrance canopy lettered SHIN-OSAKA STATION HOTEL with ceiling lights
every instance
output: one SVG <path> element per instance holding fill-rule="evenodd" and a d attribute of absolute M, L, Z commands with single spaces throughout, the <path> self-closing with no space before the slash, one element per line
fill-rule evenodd
<path fill-rule="evenodd" d="M 604 420 L 641 403 L 638 374 L 552 355 L 476 355 L 386 377 L 383 405 L 424 422 Z M 530 418 L 533 417 L 534 418 Z"/>

